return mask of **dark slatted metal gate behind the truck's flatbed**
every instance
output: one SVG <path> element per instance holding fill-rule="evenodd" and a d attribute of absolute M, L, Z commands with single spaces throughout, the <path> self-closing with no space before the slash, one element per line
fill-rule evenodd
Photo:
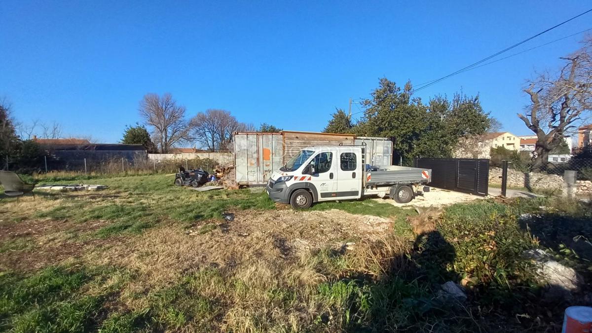
<path fill-rule="evenodd" d="M 430 186 L 487 196 L 489 160 L 477 158 L 416 158 L 417 168 L 432 169 Z"/>

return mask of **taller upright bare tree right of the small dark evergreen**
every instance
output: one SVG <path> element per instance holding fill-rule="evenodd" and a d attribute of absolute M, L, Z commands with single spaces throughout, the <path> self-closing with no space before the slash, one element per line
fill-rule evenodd
<path fill-rule="evenodd" d="M 185 120 L 185 107 L 176 105 L 169 93 L 160 97 L 146 94 L 140 101 L 140 116 L 152 127 L 152 136 L 160 152 L 166 153 L 176 143 L 189 139 L 189 122 Z"/>

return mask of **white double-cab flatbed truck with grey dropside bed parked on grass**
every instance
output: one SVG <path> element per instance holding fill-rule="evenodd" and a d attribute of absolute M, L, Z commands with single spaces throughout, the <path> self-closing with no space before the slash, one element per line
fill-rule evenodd
<path fill-rule="evenodd" d="M 414 187 L 430 182 L 431 169 L 391 165 L 368 168 L 364 146 L 314 146 L 302 149 L 279 171 L 266 191 L 275 202 L 305 209 L 322 201 L 358 199 L 365 196 L 391 197 L 408 203 Z"/>

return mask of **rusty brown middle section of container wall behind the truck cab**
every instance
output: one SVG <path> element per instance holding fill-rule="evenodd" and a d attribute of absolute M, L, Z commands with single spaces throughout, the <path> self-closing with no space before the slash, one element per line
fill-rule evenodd
<path fill-rule="evenodd" d="M 298 133 L 282 132 L 284 135 L 284 163 L 288 162 L 292 156 L 296 155 L 301 149 L 309 146 L 337 146 L 353 145 L 353 135 L 334 135 L 324 133 Z"/>

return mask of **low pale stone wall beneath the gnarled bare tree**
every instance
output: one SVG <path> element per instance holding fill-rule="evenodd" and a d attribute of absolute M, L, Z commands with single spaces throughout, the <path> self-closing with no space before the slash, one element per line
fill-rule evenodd
<path fill-rule="evenodd" d="M 489 169 L 489 183 L 501 185 L 501 168 Z M 549 175 L 539 172 L 520 172 L 513 169 L 508 169 L 507 186 L 562 190 L 563 177 L 560 175 Z M 592 193 L 592 181 L 578 180 L 576 182 L 575 193 Z"/>

